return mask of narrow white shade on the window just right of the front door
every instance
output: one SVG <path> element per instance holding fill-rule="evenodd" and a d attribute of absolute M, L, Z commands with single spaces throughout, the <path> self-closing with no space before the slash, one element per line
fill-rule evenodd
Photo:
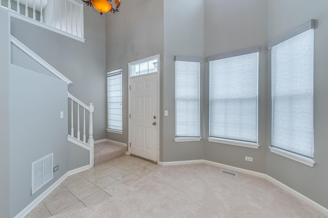
<path fill-rule="evenodd" d="M 175 136 L 199 137 L 200 63 L 175 61 Z"/>

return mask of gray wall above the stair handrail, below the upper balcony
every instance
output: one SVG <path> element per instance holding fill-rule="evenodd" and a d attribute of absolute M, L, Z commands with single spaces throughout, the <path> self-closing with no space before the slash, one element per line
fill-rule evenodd
<path fill-rule="evenodd" d="M 94 139 L 106 138 L 105 16 L 91 7 L 84 9 L 86 41 L 12 18 L 11 34 L 69 78 L 69 92 L 82 102 L 93 103 Z"/>

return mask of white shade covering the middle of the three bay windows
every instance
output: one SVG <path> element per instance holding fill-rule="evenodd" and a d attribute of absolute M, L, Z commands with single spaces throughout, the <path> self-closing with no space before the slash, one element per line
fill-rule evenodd
<path fill-rule="evenodd" d="M 258 52 L 210 61 L 210 137 L 257 143 Z"/>

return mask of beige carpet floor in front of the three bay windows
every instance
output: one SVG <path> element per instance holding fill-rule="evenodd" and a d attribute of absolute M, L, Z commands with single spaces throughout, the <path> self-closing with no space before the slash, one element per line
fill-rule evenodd
<path fill-rule="evenodd" d="M 206 164 L 161 167 L 110 200 L 54 217 L 326 217 L 272 183 Z"/>

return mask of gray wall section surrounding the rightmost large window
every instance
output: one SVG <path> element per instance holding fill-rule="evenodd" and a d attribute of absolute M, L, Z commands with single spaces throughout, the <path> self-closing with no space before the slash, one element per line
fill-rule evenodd
<path fill-rule="evenodd" d="M 268 150 L 267 174 L 328 208 L 328 2 L 269 0 L 268 40 L 317 19 L 314 38 L 314 167 L 309 167 Z M 270 51 L 268 52 L 270 65 Z M 270 68 L 268 70 L 271 71 Z M 270 99 L 268 77 L 268 99 Z M 268 145 L 271 144 L 271 102 L 268 101 Z"/>

